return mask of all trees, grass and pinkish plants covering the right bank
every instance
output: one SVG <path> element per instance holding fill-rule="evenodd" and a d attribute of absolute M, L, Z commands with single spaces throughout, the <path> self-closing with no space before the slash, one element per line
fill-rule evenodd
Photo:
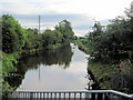
<path fill-rule="evenodd" d="M 133 17 L 117 17 L 110 24 L 95 22 L 93 31 L 79 38 L 79 48 L 90 54 L 89 69 L 101 89 L 133 92 Z"/>

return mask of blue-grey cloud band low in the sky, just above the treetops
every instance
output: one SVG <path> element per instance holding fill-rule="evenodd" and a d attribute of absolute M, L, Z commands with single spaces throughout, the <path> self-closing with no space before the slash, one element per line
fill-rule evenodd
<path fill-rule="evenodd" d="M 23 28 L 38 28 L 39 14 L 12 14 Z M 64 19 L 71 22 L 76 36 L 84 36 L 94 22 L 91 18 L 81 14 L 43 13 L 41 14 L 41 31 L 44 31 L 47 28 L 54 29 L 55 24 Z"/>

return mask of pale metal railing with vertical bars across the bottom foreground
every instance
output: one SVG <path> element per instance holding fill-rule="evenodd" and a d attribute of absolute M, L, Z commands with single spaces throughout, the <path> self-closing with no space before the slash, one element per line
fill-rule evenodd
<path fill-rule="evenodd" d="M 43 99 L 43 100 L 132 100 L 133 94 L 126 94 L 114 90 L 90 91 L 16 91 L 9 93 L 9 98 L 16 99 Z"/>

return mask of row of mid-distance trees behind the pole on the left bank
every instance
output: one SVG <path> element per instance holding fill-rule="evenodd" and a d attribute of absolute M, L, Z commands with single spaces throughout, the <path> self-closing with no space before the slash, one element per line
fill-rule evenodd
<path fill-rule="evenodd" d="M 57 29 L 55 30 L 47 29 L 42 33 L 38 34 L 37 29 L 30 29 L 30 28 L 27 29 L 25 30 L 27 38 L 25 38 L 25 44 L 23 47 L 23 51 L 27 52 L 29 50 L 29 52 L 31 52 L 31 51 L 33 51 L 33 49 L 35 49 L 35 50 L 55 49 L 55 48 L 61 47 L 62 43 L 69 43 L 70 39 L 73 38 L 73 34 L 72 34 L 73 31 L 71 28 L 71 23 L 65 20 L 65 21 L 61 21 L 61 23 L 59 23 L 59 24 L 61 27 L 61 30 L 65 31 L 65 33 L 61 32 L 61 30 L 57 30 Z M 58 27 L 55 27 L 55 28 L 58 28 Z M 70 32 L 72 32 L 72 33 L 70 33 Z"/>

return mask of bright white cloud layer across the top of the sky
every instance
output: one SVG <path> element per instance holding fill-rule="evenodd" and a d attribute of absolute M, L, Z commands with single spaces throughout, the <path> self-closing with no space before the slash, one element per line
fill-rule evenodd
<path fill-rule="evenodd" d="M 4 0 L 4 9 L 19 14 L 25 13 L 73 13 L 93 17 L 96 20 L 121 16 L 132 0 Z"/>

